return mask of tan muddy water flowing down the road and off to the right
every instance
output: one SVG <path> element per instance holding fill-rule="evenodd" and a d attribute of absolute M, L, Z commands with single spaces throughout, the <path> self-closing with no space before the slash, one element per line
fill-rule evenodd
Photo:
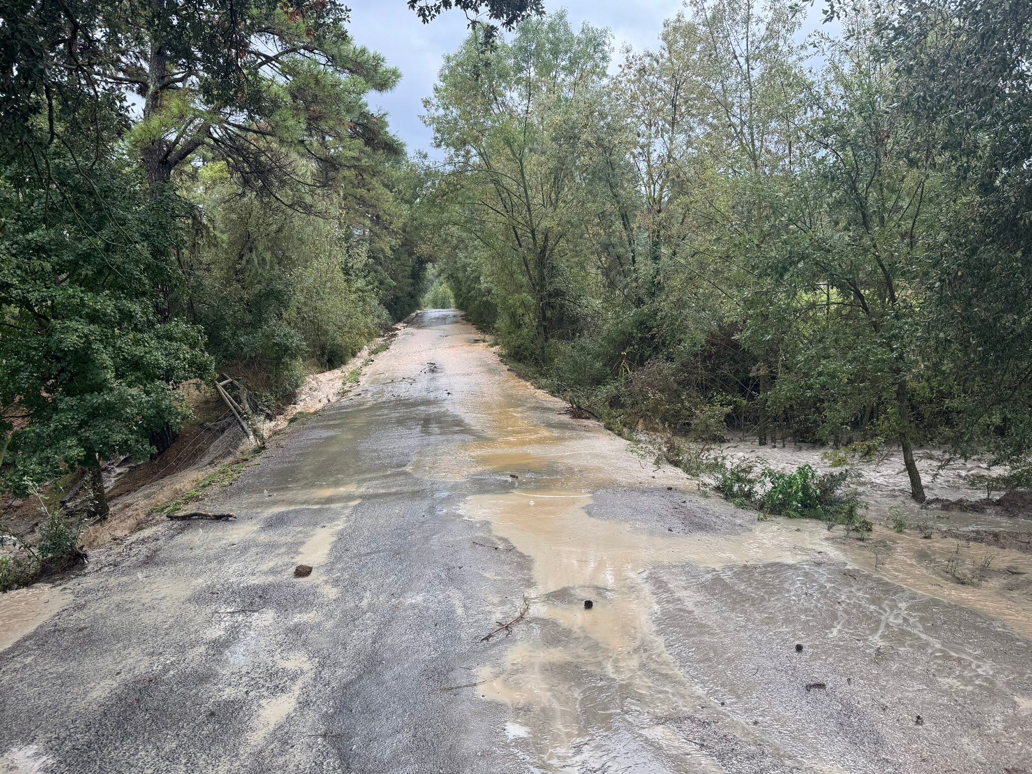
<path fill-rule="evenodd" d="M 437 360 L 459 366 L 461 349 L 436 353 Z M 644 484 L 676 491 L 689 485 L 679 473 L 645 460 L 637 469 L 628 466 L 624 442 L 591 423 L 553 423 L 540 411 L 528 412 L 526 406 L 543 396 L 515 378 L 503 375 L 492 383 L 489 375 L 477 377 L 479 388 L 452 387 L 457 393 L 453 406 L 476 428 L 477 437 L 451 445 L 447 454 L 417 455 L 409 470 L 427 479 L 487 475 L 505 481 L 506 474 L 512 476 L 508 491 L 472 494 L 461 514 L 488 523 L 496 538 L 531 561 L 529 609 L 518 624 L 524 636 L 506 646 L 501 664 L 480 668 L 477 679 L 483 682 L 477 690 L 484 700 L 510 707 L 507 738 L 521 754 L 534 751 L 525 760 L 535 767 L 608 771 L 607 765 L 619 761 L 630 771 L 723 771 L 705 745 L 696 745 L 657 720 L 700 712 L 720 717 L 746 744 L 756 739 L 754 727 L 742 713 L 714 706 L 708 698 L 713 685 L 686 675 L 683 662 L 668 651 L 667 640 L 656 630 L 660 601 L 651 583 L 653 573 L 665 568 L 690 567 L 741 583 L 745 569 L 783 567 L 788 585 L 782 614 L 786 614 L 795 593 L 791 568 L 799 562 L 811 570 L 829 561 L 846 562 L 898 586 L 991 616 L 1032 639 L 1027 593 L 1008 591 L 1002 581 L 995 582 L 999 578 L 985 572 L 968 583 L 945 574 L 956 541 L 923 541 L 915 535 L 879 529 L 874 540 L 861 543 L 829 533 L 816 522 L 786 519 L 759 522 L 738 535 L 665 535 L 594 518 L 590 509 L 601 489 Z M 560 408 L 555 401 L 552 406 Z M 968 555 L 972 550 L 977 548 L 962 548 L 966 566 L 981 562 L 980 556 Z M 1026 555 L 993 553 L 991 565 L 1032 572 Z M 745 601 L 754 590 L 739 594 L 735 604 L 747 607 Z M 681 589 L 680 593 L 679 605 L 689 610 L 694 605 L 705 607 L 694 592 Z M 770 593 L 779 591 L 772 588 Z M 593 602 L 590 610 L 584 608 L 586 599 Z M 669 603 L 669 599 L 662 602 Z M 899 605 L 889 620 L 910 617 L 906 606 Z M 519 600 L 499 601 L 499 619 L 508 620 L 519 606 Z M 877 608 L 858 608 L 864 625 L 869 612 L 885 615 Z M 949 650 L 939 640 L 932 646 L 937 652 L 966 657 L 964 651 Z M 975 679 L 988 674 L 985 662 L 979 664 L 975 672 L 980 677 Z M 720 663 L 711 669 L 719 672 Z M 768 745 L 779 744 L 772 741 L 778 738 L 778 712 L 775 705 L 761 701 L 752 714 L 775 730 L 773 737 L 765 738 Z M 837 766 L 831 753 L 816 753 L 825 744 L 818 735 L 805 728 L 792 733 L 786 725 L 780 728 L 783 762 L 816 755 L 825 759 L 820 771 L 850 770 Z"/>

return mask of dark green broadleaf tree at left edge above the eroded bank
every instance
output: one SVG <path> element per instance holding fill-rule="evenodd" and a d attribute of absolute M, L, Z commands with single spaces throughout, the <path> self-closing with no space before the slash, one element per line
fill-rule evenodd
<path fill-rule="evenodd" d="M 137 459 L 186 416 L 175 387 L 212 367 L 200 331 L 167 319 L 181 282 L 168 204 L 132 169 L 84 178 L 54 151 L 51 183 L 0 169 L 0 405 L 5 486 L 25 492 L 76 465 Z"/>

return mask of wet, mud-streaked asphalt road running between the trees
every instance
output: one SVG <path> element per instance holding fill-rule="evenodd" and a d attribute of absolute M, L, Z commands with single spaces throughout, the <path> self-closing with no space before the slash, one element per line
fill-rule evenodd
<path fill-rule="evenodd" d="M 482 338 L 0 605 L 0 772 L 1032 772 L 1030 554 L 757 522 Z"/>

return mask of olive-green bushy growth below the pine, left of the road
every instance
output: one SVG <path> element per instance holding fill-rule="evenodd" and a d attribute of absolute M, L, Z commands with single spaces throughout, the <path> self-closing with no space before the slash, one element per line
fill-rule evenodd
<path fill-rule="evenodd" d="M 190 297 L 224 368 L 281 401 L 309 363 L 337 367 L 388 325 L 367 244 L 332 220 L 241 192 L 218 169 L 203 182 L 207 237 L 192 251 Z"/>

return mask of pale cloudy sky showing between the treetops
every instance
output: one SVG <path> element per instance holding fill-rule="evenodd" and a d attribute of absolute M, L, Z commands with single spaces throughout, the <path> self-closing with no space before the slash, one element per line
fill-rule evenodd
<path fill-rule="evenodd" d="M 387 94 L 369 95 L 369 104 L 389 114 L 391 128 L 410 152 L 430 148 L 430 131 L 419 120 L 423 98 L 433 90 L 443 55 L 454 51 L 465 36 L 465 17 L 447 12 L 422 25 L 409 10 L 405 0 L 351 0 L 351 31 L 355 41 L 387 58 L 387 63 L 401 71 L 401 83 Z M 575 28 L 590 22 L 613 32 L 613 49 L 625 43 L 635 49 L 652 45 L 663 29 L 663 21 L 681 8 L 681 0 L 567 0 L 549 2 L 549 10 L 566 6 Z M 819 26 L 819 17 L 811 12 L 805 27 Z"/>

